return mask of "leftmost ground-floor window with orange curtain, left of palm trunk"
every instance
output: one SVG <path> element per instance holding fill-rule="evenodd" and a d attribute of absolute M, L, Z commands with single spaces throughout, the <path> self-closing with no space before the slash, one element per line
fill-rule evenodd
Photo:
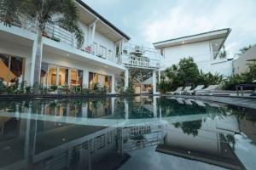
<path fill-rule="evenodd" d="M 25 59 L 0 54 L 0 79 L 6 85 L 13 85 L 24 76 Z"/>

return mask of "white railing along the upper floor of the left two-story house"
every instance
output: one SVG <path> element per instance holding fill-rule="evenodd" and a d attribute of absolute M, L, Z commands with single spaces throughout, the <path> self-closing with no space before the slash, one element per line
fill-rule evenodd
<path fill-rule="evenodd" d="M 38 26 L 35 21 L 27 20 L 26 18 L 20 17 L 19 21 L 15 21 L 13 26 L 20 27 L 21 29 L 31 31 L 33 33 L 37 33 Z M 73 33 L 67 31 L 60 26 L 56 26 L 54 24 L 48 24 L 45 26 L 45 31 L 42 34 L 43 37 L 49 38 L 55 42 L 63 42 L 68 46 L 73 48 L 80 49 L 85 53 L 95 55 L 96 57 L 102 59 L 108 59 L 111 62 L 121 64 L 121 58 L 119 55 L 115 55 L 109 53 L 108 50 L 105 48 L 96 48 L 94 45 L 84 43 L 82 48 L 78 48 L 76 44 L 76 39 L 74 38 Z"/>

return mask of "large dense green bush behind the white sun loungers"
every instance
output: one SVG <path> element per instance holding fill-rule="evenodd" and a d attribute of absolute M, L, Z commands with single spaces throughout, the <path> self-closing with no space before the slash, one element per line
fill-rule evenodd
<path fill-rule="evenodd" d="M 158 84 L 161 93 L 176 90 L 178 87 L 192 86 L 195 88 L 200 84 L 208 86 L 223 81 L 222 75 L 199 71 L 192 57 L 181 59 L 178 65 L 167 68 L 165 76 L 166 79 Z"/>

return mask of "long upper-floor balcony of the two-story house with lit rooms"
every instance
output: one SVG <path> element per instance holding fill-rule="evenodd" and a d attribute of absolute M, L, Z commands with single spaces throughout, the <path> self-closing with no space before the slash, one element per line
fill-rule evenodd
<path fill-rule="evenodd" d="M 9 28 L 8 26 L 1 26 L 1 30 L 3 30 L 2 28 L 4 29 L 4 31 L 8 31 L 9 33 L 15 34 L 16 36 L 27 37 L 32 41 L 34 40 L 34 37 L 36 37 L 36 33 L 38 31 L 38 26 L 35 21 L 26 20 L 23 17 L 20 17 L 19 21 L 15 21 L 11 28 Z M 17 31 L 17 29 L 20 29 L 20 31 Z M 25 32 L 26 34 L 24 34 Z M 30 36 L 28 37 L 27 35 Z M 86 33 L 84 33 L 84 35 L 86 35 Z M 90 42 L 85 41 L 86 39 L 88 39 L 87 35 L 84 36 L 85 40 L 81 48 L 78 48 L 73 33 L 54 24 L 48 24 L 45 27 L 45 31 L 42 36 L 44 38 L 47 38 L 48 42 L 55 42 L 56 46 L 58 46 L 58 43 L 60 43 L 60 47 L 63 46 L 67 47 L 68 49 L 73 48 L 73 50 L 79 50 L 79 52 L 83 51 L 84 54 L 91 54 L 96 58 L 100 58 L 100 60 L 106 59 L 112 63 L 119 65 L 121 64 L 121 58 L 118 54 L 115 53 L 114 45 L 111 50 L 102 47 L 103 45 L 101 44 L 101 42 L 98 42 L 98 45 L 96 46 L 95 44 L 91 44 Z M 114 44 L 114 42 L 112 44 Z M 73 51 L 68 52 L 73 53 Z"/>

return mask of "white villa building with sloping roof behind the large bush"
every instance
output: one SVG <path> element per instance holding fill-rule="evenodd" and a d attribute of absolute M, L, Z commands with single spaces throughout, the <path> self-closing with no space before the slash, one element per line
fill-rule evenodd
<path fill-rule="evenodd" d="M 228 77 L 232 74 L 232 61 L 221 58 L 221 49 L 230 34 L 230 29 L 208 31 L 188 37 L 178 37 L 162 42 L 154 42 L 154 48 L 164 56 L 164 66 L 176 65 L 180 59 L 193 57 L 203 72 L 218 72 Z"/>

